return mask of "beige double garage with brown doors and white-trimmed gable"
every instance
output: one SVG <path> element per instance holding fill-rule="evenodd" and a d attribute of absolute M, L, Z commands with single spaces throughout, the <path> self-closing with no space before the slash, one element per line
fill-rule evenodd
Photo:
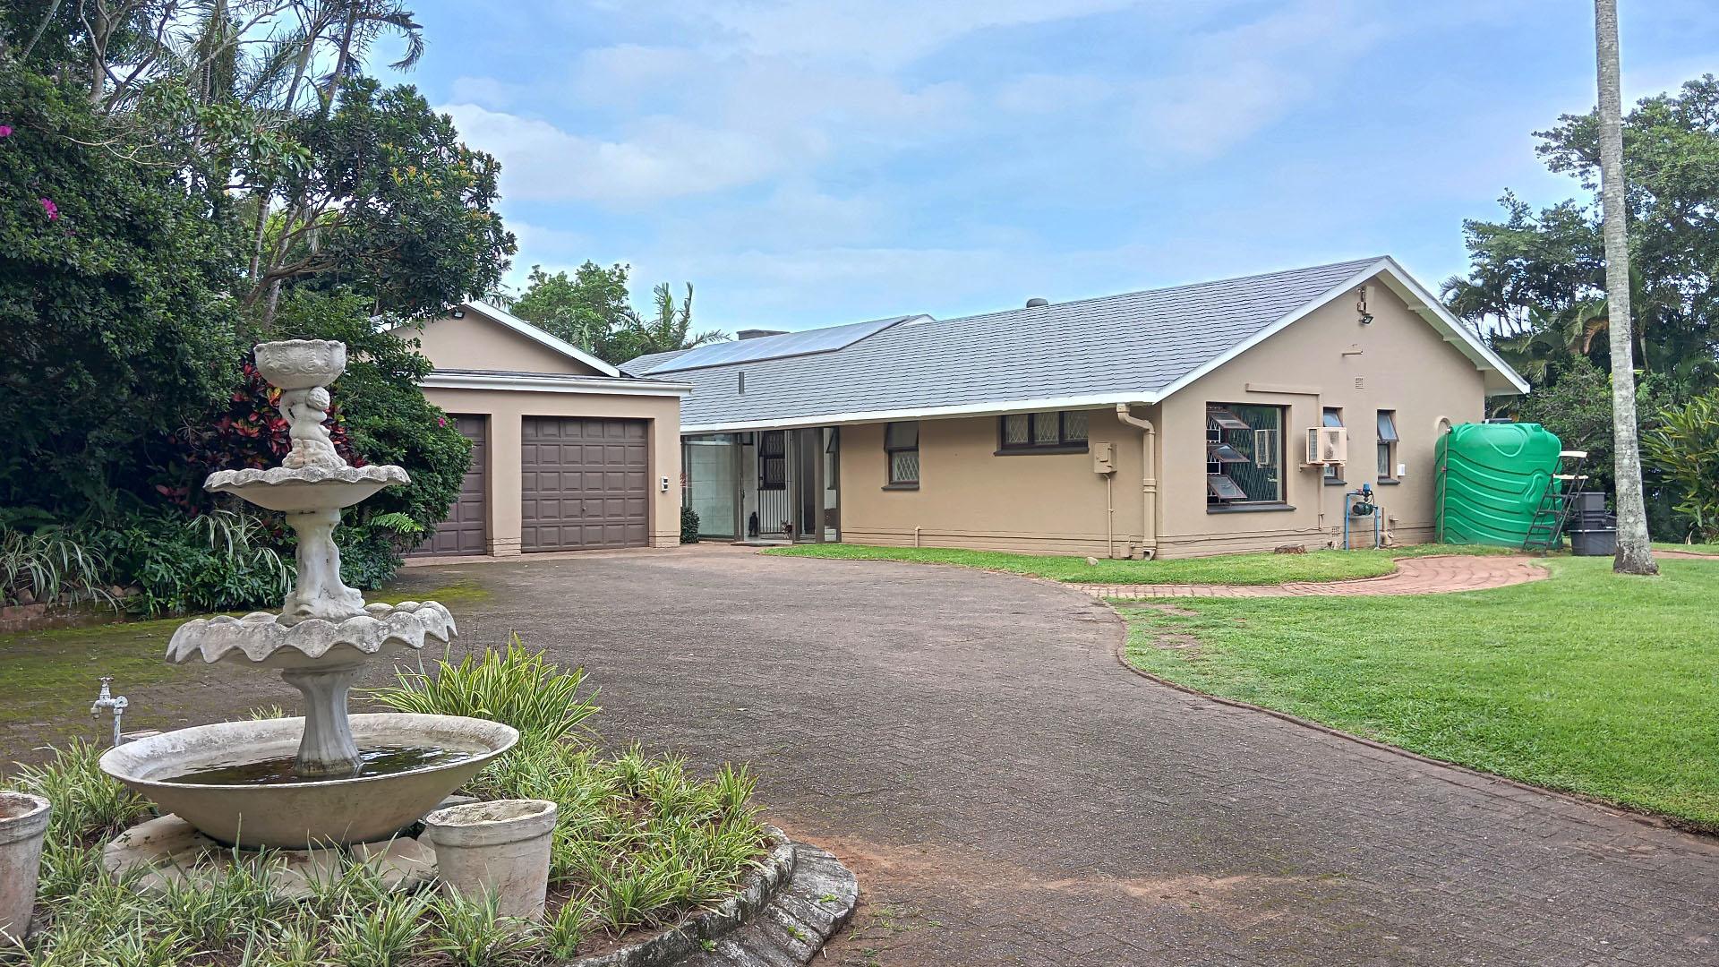
<path fill-rule="evenodd" d="M 449 518 L 414 554 L 667 547 L 681 540 L 681 397 L 492 305 L 395 330 L 435 363 L 425 397 L 473 442 Z"/>

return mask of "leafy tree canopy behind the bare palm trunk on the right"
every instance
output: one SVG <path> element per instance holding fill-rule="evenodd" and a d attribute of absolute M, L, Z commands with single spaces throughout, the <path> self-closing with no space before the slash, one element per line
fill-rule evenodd
<path fill-rule="evenodd" d="M 1599 206 L 1599 117 L 1537 131 L 1547 169 L 1587 198 L 1535 212 L 1504 193 L 1504 219 L 1468 220 L 1470 270 L 1444 284 L 1451 308 L 1496 339 L 1535 382 L 1585 356 L 1611 368 Z M 1719 81 L 1642 100 L 1623 124 L 1636 366 L 1691 389 L 1719 384 Z"/>

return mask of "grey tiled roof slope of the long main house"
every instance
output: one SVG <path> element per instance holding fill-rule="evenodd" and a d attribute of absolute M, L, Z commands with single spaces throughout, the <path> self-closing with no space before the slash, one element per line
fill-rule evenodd
<path fill-rule="evenodd" d="M 693 384 L 682 427 L 736 427 L 1081 396 L 1155 396 L 1379 258 L 966 318 L 908 322 L 842 349 L 664 373 Z M 641 360 L 636 360 L 638 363 Z M 624 372 L 641 372 L 634 363 Z M 746 391 L 739 392 L 739 373 Z"/>

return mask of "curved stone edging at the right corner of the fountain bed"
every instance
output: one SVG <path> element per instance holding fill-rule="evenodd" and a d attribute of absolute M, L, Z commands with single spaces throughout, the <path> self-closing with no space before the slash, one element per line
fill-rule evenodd
<path fill-rule="evenodd" d="M 763 865 L 741 881 L 737 895 L 650 939 L 564 962 L 564 967 L 810 964 L 853 917 L 860 879 L 827 850 L 796 843 L 775 826 L 765 831 L 775 847 Z M 705 950 L 701 941 L 715 948 Z"/>

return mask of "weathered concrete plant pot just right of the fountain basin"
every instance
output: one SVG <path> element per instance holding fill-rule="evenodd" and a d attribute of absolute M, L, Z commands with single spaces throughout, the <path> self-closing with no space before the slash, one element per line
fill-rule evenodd
<path fill-rule="evenodd" d="M 504 798 L 450 805 L 425 816 L 437 876 L 461 896 L 495 895 L 504 917 L 543 919 L 555 804 Z"/>

